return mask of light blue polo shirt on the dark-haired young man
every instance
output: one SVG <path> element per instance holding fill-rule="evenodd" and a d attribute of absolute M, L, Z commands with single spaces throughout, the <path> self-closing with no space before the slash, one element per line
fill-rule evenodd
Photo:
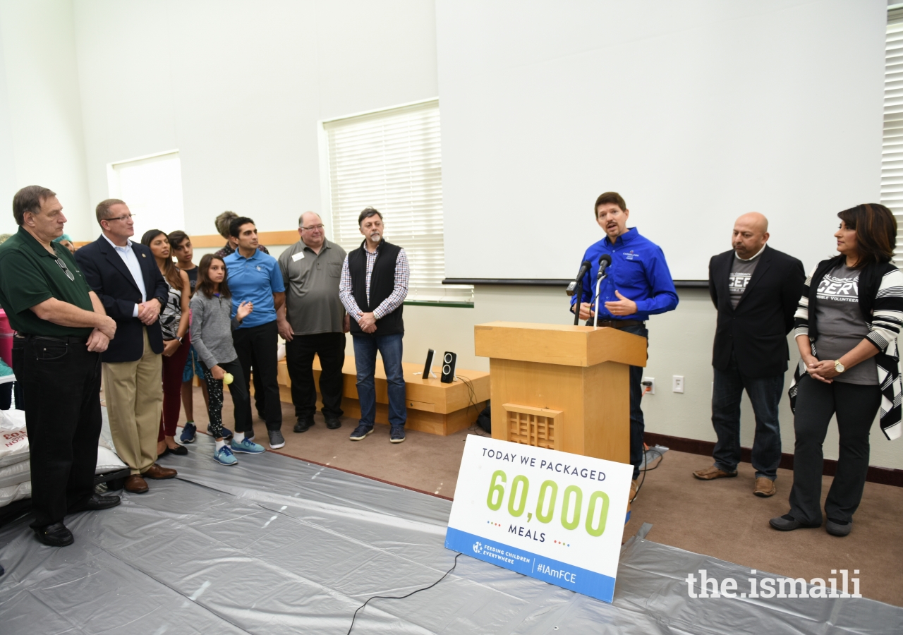
<path fill-rule="evenodd" d="M 254 303 L 254 311 L 238 328 L 249 329 L 273 322 L 276 319 L 273 294 L 285 291 L 282 271 L 275 257 L 256 249 L 252 257 L 246 258 L 236 250 L 223 262 L 228 271 L 228 288 L 232 292 L 232 317 L 235 317 L 239 303 Z"/>

